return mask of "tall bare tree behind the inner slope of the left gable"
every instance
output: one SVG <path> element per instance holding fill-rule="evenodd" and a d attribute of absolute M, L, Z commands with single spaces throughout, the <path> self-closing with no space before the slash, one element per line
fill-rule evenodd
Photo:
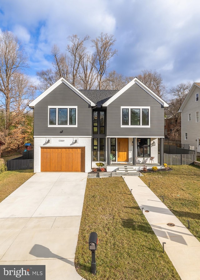
<path fill-rule="evenodd" d="M 73 86 L 76 87 L 79 87 L 77 77 L 81 63 L 87 56 L 87 49 L 84 46 L 84 42 L 89 40 L 89 38 L 90 37 L 88 35 L 86 35 L 83 39 L 78 38 L 77 35 L 68 36 L 70 44 L 68 44 L 67 50 L 70 54 L 71 80 Z"/>

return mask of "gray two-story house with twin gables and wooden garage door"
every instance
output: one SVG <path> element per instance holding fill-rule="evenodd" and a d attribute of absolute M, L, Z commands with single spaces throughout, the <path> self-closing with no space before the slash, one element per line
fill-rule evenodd
<path fill-rule="evenodd" d="M 163 165 L 168 104 L 138 78 L 119 91 L 78 90 L 61 78 L 29 106 L 34 172 L 90 172 L 97 162 L 114 171 L 117 164 L 136 167 L 151 157 Z"/>

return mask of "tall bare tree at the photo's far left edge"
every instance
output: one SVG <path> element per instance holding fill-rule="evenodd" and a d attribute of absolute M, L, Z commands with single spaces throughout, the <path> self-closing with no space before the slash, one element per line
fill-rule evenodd
<path fill-rule="evenodd" d="M 17 37 L 5 31 L 0 35 L 0 93 L 5 98 L 2 104 L 6 111 L 6 128 L 9 127 L 10 103 L 13 98 L 12 78 L 15 73 L 27 67 L 25 55 Z M 3 108 L 3 106 L 1 107 Z"/>

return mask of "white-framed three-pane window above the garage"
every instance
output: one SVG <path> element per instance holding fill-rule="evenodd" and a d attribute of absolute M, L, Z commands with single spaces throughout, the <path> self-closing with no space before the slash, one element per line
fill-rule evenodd
<path fill-rule="evenodd" d="M 48 127 L 77 127 L 77 106 L 48 106 Z"/>

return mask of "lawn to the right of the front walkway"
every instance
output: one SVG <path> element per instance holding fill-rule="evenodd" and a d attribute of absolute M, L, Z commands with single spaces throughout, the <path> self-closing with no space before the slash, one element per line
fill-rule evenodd
<path fill-rule="evenodd" d="M 174 165 L 172 171 L 143 173 L 144 183 L 160 197 L 164 196 L 165 205 L 200 241 L 200 167 L 196 165 Z"/>

